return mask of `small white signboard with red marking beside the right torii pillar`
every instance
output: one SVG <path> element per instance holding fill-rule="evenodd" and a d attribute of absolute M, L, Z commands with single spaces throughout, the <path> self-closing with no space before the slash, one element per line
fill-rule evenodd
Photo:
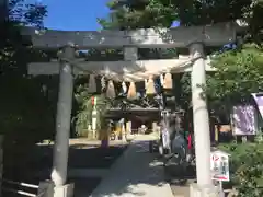
<path fill-rule="evenodd" d="M 229 154 L 215 151 L 210 154 L 211 179 L 229 182 Z"/>

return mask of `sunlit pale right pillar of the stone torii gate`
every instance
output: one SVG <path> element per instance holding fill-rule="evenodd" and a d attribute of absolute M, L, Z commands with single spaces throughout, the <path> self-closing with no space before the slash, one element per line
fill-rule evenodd
<path fill-rule="evenodd" d="M 203 90 L 203 85 L 206 84 L 203 44 L 192 44 L 190 55 L 193 58 L 198 58 L 193 63 L 191 77 L 197 184 L 199 186 L 209 186 L 211 185 L 210 131 L 207 102 Z"/>

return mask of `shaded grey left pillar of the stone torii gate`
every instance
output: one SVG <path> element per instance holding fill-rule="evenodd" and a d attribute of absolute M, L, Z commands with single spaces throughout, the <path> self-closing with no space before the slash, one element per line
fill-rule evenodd
<path fill-rule="evenodd" d="M 65 47 L 59 69 L 59 92 L 56 117 L 56 140 L 53 154 L 52 181 L 54 182 L 54 197 L 72 193 L 71 185 L 65 185 L 68 171 L 69 134 L 71 123 L 73 74 L 72 66 L 69 63 L 75 57 L 75 48 Z"/>

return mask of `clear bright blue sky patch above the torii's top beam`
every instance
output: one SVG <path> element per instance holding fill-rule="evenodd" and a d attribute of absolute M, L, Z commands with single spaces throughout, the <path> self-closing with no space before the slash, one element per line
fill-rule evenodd
<path fill-rule="evenodd" d="M 108 0 L 28 0 L 38 1 L 48 8 L 44 23 L 47 28 L 92 31 L 99 30 L 96 18 L 107 16 Z"/>

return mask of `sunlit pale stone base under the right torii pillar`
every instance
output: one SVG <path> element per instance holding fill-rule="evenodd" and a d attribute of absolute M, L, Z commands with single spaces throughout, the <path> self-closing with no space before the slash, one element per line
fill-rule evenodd
<path fill-rule="evenodd" d="M 191 184 L 190 197 L 220 197 L 220 189 L 217 186 L 198 186 Z"/>

